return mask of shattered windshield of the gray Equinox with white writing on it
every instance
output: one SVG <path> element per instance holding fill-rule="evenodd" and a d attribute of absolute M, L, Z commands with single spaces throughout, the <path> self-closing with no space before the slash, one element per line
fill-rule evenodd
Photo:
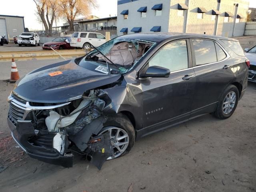
<path fill-rule="evenodd" d="M 131 70 L 154 45 L 155 42 L 115 38 L 99 46 L 97 48 L 99 51 L 95 49 L 87 54 L 78 65 L 105 74 L 108 73 L 109 66 L 111 74 L 124 74 Z"/>

